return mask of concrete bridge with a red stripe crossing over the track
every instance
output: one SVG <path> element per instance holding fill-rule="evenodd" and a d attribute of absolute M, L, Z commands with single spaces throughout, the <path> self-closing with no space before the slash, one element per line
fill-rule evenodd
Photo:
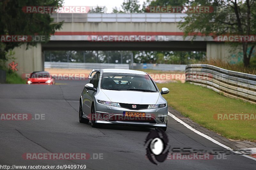
<path fill-rule="evenodd" d="M 178 22 L 186 14 L 53 14 L 54 22 L 64 21 L 62 29 L 51 36 L 47 43 L 38 43 L 28 50 L 25 45 L 15 48 L 14 57 L 18 73 L 44 69 L 45 50 L 158 50 L 158 51 L 206 51 L 209 58 L 230 60 L 229 46 L 214 42 L 211 36 L 183 38 Z M 92 36 L 148 35 L 154 41 L 93 42 Z M 234 55 L 233 55 L 234 57 Z"/>

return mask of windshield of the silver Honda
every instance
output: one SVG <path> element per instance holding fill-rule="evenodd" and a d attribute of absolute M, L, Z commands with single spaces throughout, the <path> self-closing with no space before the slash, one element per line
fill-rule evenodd
<path fill-rule="evenodd" d="M 150 77 L 140 74 L 103 73 L 101 88 L 108 90 L 157 92 Z"/>

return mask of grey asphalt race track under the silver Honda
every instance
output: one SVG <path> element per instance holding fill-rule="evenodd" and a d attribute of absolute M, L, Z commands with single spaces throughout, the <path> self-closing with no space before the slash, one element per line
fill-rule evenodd
<path fill-rule="evenodd" d="M 256 169 L 241 155 L 226 159 L 170 160 L 158 165 L 146 158 L 144 141 L 150 128 L 103 126 L 78 121 L 79 96 L 86 81 L 59 85 L 0 84 L 0 113 L 45 114 L 45 120 L 0 120 L 1 165 L 86 165 L 86 169 Z M 171 148 L 212 151 L 219 145 L 199 136 L 171 117 L 166 134 Z M 170 151 L 171 152 L 171 151 Z M 103 159 L 26 160 L 24 153 L 103 153 Z"/>

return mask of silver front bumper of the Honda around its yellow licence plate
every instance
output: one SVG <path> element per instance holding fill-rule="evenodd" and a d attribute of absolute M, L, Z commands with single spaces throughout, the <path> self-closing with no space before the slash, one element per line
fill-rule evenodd
<path fill-rule="evenodd" d="M 105 104 L 95 103 L 96 116 L 95 123 L 98 124 L 119 124 L 119 125 L 138 125 L 148 127 L 166 127 L 168 120 L 168 106 L 157 109 L 130 110 Z M 143 112 L 145 117 L 127 117 L 124 111 Z"/>

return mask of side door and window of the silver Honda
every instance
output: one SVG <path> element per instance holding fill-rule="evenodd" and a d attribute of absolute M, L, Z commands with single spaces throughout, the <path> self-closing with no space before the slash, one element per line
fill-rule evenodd
<path fill-rule="evenodd" d="M 92 79 L 89 81 L 89 83 L 93 84 L 94 88 L 98 88 L 99 84 L 99 79 L 100 79 L 100 72 L 96 72 Z M 93 90 L 88 90 L 85 89 L 85 100 L 84 100 L 84 113 L 87 114 L 88 116 L 91 116 L 91 106 L 92 106 L 92 101 L 93 101 L 93 96 L 96 94 L 95 91 Z"/>

